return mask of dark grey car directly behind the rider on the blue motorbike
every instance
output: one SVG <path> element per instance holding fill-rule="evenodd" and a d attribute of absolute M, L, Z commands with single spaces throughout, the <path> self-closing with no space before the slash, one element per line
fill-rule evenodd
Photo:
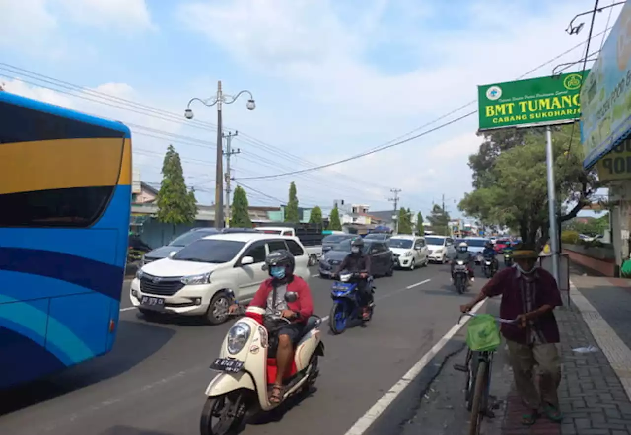
<path fill-rule="evenodd" d="M 320 259 L 318 271 L 322 278 L 333 278 L 342 260 L 351 252 L 351 239 L 345 240 L 327 251 Z M 386 242 L 364 240 L 363 252 L 370 255 L 370 265 L 374 277 L 391 276 L 394 272 L 394 258 Z"/>

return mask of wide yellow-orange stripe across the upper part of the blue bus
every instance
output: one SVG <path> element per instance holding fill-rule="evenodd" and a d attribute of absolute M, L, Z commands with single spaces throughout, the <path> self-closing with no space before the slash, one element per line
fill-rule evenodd
<path fill-rule="evenodd" d="M 81 138 L 0 144 L 0 194 L 115 186 L 119 180 L 127 181 L 131 175 L 121 171 L 123 141 Z M 131 165 L 131 155 L 127 162 Z"/>

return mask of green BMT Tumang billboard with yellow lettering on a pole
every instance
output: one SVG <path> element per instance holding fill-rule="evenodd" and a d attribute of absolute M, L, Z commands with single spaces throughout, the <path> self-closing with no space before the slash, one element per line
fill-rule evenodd
<path fill-rule="evenodd" d="M 579 119 L 581 77 L 581 73 L 569 73 L 478 86 L 480 130 L 565 124 Z"/>

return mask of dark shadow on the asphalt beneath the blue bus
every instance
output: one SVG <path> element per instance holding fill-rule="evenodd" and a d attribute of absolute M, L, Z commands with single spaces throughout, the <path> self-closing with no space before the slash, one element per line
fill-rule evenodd
<path fill-rule="evenodd" d="M 121 320 L 112 352 L 40 381 L 0 391 L 0 415 L 118 376 L 158 352 L 174 335 L 169 328 Z"/>

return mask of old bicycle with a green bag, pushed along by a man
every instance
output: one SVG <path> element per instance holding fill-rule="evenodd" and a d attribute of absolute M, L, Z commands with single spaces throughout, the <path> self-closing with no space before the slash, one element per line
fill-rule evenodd
<path fill-rule="evenodd" d="M 480 314 L 464 313 L 458 318 L 458 323 L 463 316 L 478 317 Z M 499 323 L 516 323 L 515 320 L 508 320 L 492 316 Z M 466 373 L 466 383 L 464 389 L 464 400 L 467 410 L 471 413 L 469 420 L 469 435 L 480 433 L 480 423 L 483 417 L 492 419 L 495 414 L 488 409 L 488 392 L 490 390 L 491 372 L 493 369 L 493 355 L 495 350 L 467 350 L 464 364 L 454 364 L 454 369 Z"/>

